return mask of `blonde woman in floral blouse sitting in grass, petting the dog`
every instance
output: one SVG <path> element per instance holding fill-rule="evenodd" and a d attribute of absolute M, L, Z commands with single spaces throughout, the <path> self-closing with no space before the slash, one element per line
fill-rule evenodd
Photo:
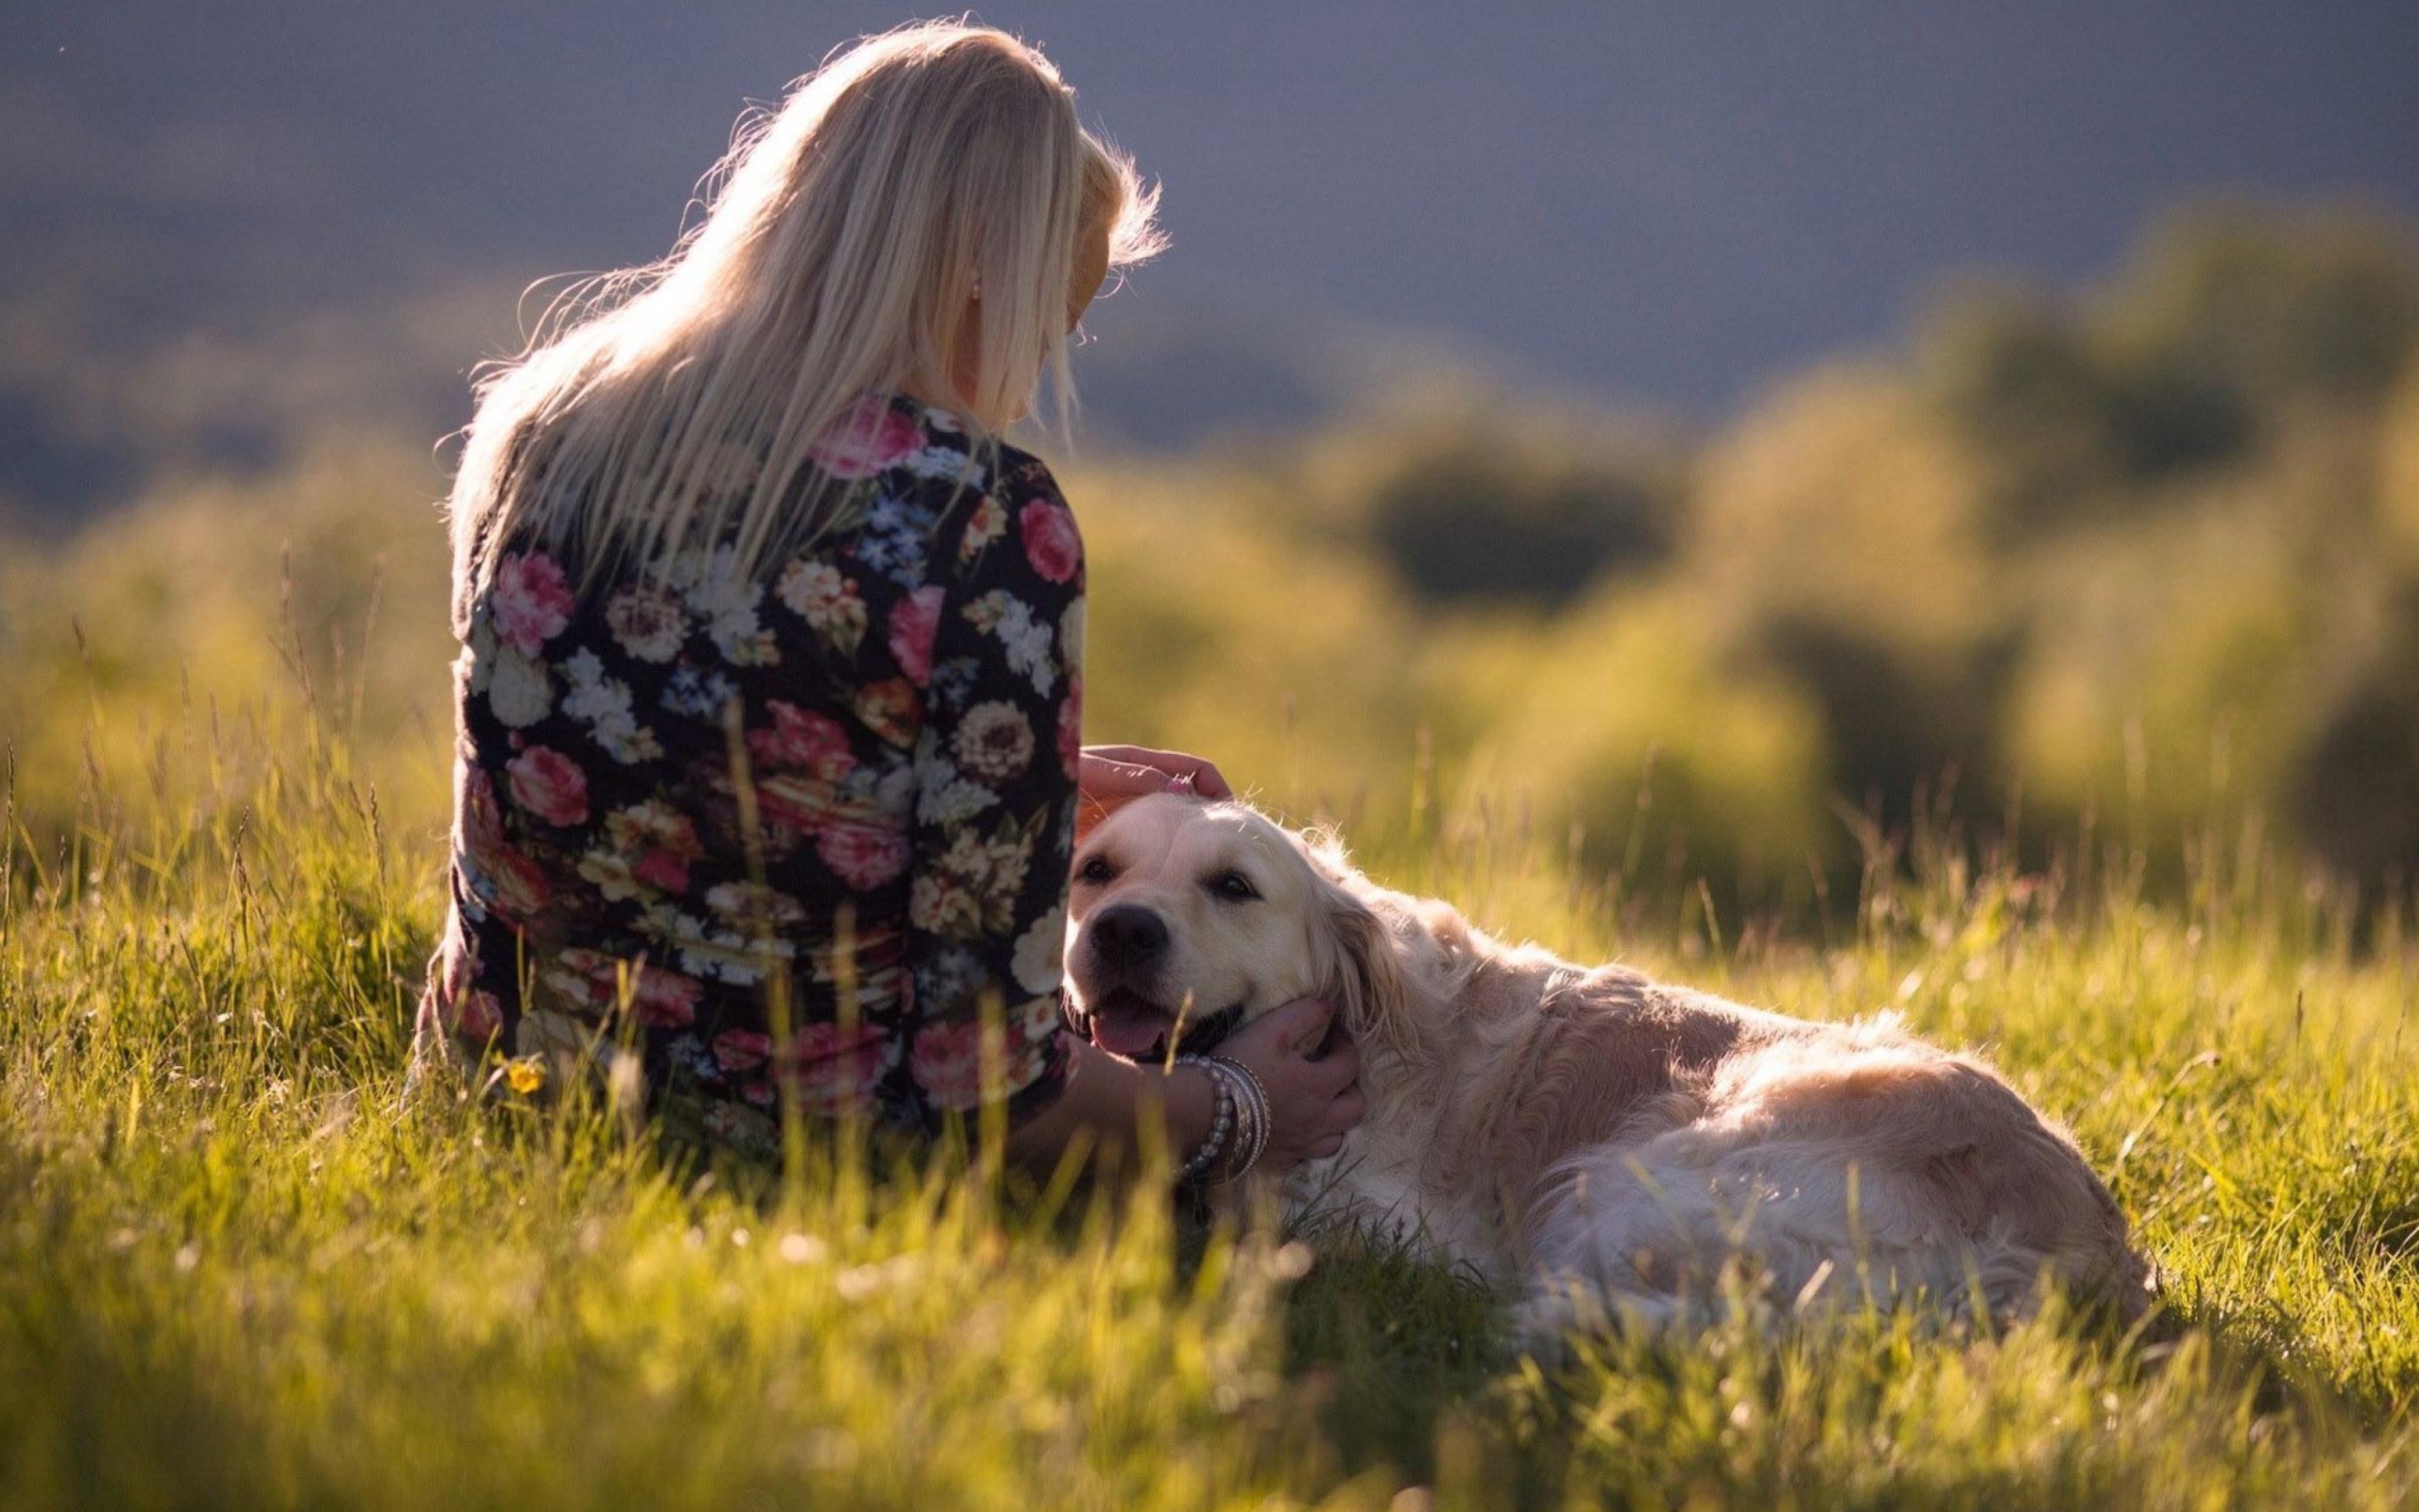
<path fill-rule="evenodd" d="M 1084 556 L 999 443 L 1154 194 L 1038 53 L 861 41 L 743 135 L 704 223 L 481 385 L 450 501 L 452 910 L 421 1023 L 501 1081 L 610 1064 L 668 1132 L 776 1147 L 784 1103 L 1011 1152 L 1161 1123 L 1193 1171 L 1333 1154 L 1347 1048 L 1292 1004 L 1226 1062 L 1067 1033 L 1089 806 L 1197 757 L 1084 752 Z"/>

